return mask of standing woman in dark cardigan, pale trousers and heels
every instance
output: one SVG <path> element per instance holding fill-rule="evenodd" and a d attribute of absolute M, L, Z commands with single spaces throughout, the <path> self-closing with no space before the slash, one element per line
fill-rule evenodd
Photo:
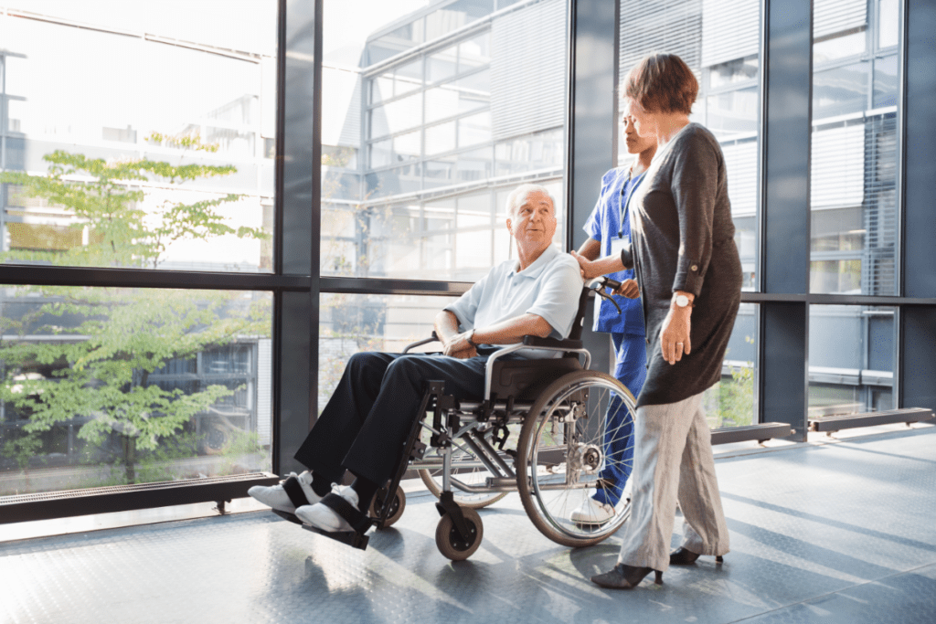
<path fill-rule="evenodd" d="M 631 246 L 589 262 L 586 278 L 636 268 L 622 294 L 643 297 L 647 382 L 637 398 L 631 518 L 618 564 L 592 581 L 633 588 L 651 571 L 662 583 L 670 564 L 700 555 L 721 560 L 728 531 L 715 478 L 702 393 L 722 376 L 741 289 L 741 264 L 728 203 L 724 156 L 705 127 L 689 122 L 698 83 L 673 54 L 651 54 L 624 83 L 625 114 L 658 147 L 631 197 Z M 676 504 L 685 517 L 682 546 L 670 553 Z"/>

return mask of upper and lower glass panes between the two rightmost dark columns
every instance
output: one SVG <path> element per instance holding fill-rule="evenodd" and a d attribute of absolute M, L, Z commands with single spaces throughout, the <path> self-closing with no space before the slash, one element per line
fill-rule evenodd
<path fill-rule="evenodd" d="M 813 8 L 812 293 L 899 295 L 900 4 L 817 0 Z M 894 406 L 893 309 L 811 306 L 810 327 L 811 414 Z M 839 381 L 830 384 L 830 374 Z"/>

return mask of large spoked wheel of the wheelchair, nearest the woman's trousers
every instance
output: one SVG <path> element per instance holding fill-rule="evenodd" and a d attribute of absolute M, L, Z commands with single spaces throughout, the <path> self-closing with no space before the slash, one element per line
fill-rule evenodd
<path fill-rule="evenodd" d="M 553 542 L 597 544 L 630 516 L 626 496 L 610 513 L 585 503 L 599 486 L 622 491 L 621 475 L 633 465 L 635 403 L 610 375 L 578 370 L 548 385 L 530 409 L 517 449 L 520 501 Z"/>

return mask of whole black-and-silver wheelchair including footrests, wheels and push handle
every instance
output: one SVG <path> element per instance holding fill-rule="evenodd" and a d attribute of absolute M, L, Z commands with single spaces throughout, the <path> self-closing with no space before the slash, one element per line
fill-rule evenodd
<path fill-rule="evenodd" d="M 400 481 L 416 470 L 438 498 L 435 542 L 448 559 L 475 553 L 484 535 L 477 510 L 509 492 L 519 493 L 536 529 L 557 544 L 597 544 L 619 530 L 630 516 L 630 500 L 620 491 L 610 517 L 573 519 L 596 489 L 618 487 L 601 473 L 633 457 L 636 401 L 614 377 L 588 370 L 591 354 L 580 340 L 590 293 L 613 302 L 604 289 L 619 285 L 599 278 L 583 287 L 569 339 L 526 336 L 491 354 L 483 397 L 459 401 L 445 394 L 443 382 L 427 381 L 401 464 L 374 497 L 371 524 L 380 530 L 399 520 L 406 505 Z M 434 332 L 403 353 L 432 341 Z M 562 355 L 505 359 L 520 349 Z M 511 438 L 516 442 L 507 444 Z M 323 534 L 357 548 L 369 540 L 363 531 Z"/>

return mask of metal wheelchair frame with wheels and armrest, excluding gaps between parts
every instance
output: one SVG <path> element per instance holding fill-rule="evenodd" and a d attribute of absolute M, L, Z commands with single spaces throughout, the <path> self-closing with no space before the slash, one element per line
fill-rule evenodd
<path fill-rule="evenodd" d="M 630 392 L 609 375 L 587 370 L 591 363 L 591 354 L 578 340 L 584 319 L 585 304 L 590 291 L 593 290 L 598 295 L 607 297 L 603 289 L 605 287 L 613 289 L 618 285 L 613 280 L 600 278 L 583 288 L 581 297 L 579 297 L 576 323 L 572 331 L 574 338 L 558 341 L 526 336 L 522 342 L 505 346 L 491 354 L 485 370 L 483 399 L 460 402 L 445 394 L 444 382 L 428 381 L 417 413 L 419 417 L 415 419 L 404 444 L 401 464 L 393 478 L 388 482 L 388 486 L 382 489 L 376 497 L 372 513 L 375 516 L 372 519 L 373 525 L 377 529 L 388 527 L 402 515 L 405 496 L 400 487 L 400 481 L 408 468 L 419 470 L 423 480 L 427 481 L 427 485 L 429 481 L 425 475 L 428 474 L 428 471 L 441 468 L 442 486 L 441 491 L 437 494 L 439 501 L 436 503 L 441 519 L 435 537 L 436 545 L 448 559 L 467 559 L 475 553 L 483 538 L 483 525 L 480 515 L 477 514 L 474 507 L 487 504 L 482 503 L 475 506 L 459 504 L 455 499 L 455 489 L 466 493 L 494 495 L 519 491 L 524 509 L 527 515 L 530 515 L 536 528 L 549 539 L 559 544 L 569 546 L 596 544 L 620 529 L 630 514 L 629 501 L 622 500 L 614 506 L 614 515 L 609 520 L 604 522 L 583 520 L 578 523 L 566 523 L 574 525 L 573 529 L 570 529 L 561 526 L 563 523 L 558 522 L 554 515 L 546 509 L 543 500 L 543 493 L 550 490 L 561 490 L 564 493 L 571 489 L 588 490 L 608 486 L 600 478 L 595 478 L 593 481 L 581 480 L 582 473 L 597 474 L 600 472 L 603 462 L 607 460 L 601 448 L 603 442 L 591 444 L 572 442 L 578 436 L 578 433 L 576 433 L 578 421 L 588 421 L 590 388 L 596 388 L 608 393 L 608 407 L 606 410 L 615 404 L 615 400 L 620 401 L 622 406 L 626 407 L 627 414 L 631 422 L 633 422 L 635 400 Z M 611 300 L 613 301 L 613 299 Z M 617 304 L 615 306 L 617 307 Z M 408 345 L 403 353 L 408 353 L 411 349 L 431 341 L 437 341 L 434 332 L 431 338 Z M 564 357 L 511 360 L 510 362 L 499 361 L 504 356 L 521 349 L 560 352 L 564 354 Z M 575 365 L 570 364 L 570 361 L 574 361 Z M 559 369 L 560 374 L 545 384 L 545 387 L 543 387 L 542 379 L 537 380 L 533 385 L 525 386 L 522 384 L 522 380 L 519 384 L 507 384 L 506 386 L 495 383 L 498 381 L 495 380 L 495 374 L 505 370 L 502 365 L 514 362 L 517 363 L 515 366 L 506 367 L 508 377 L 511 368 L 519 370 L 521 373 L 532 370 L 534 377 L 536 377 L 537 370 L 548 368 Z M 548 364 L 550 363 L 558 364 L 558 366 L 549 367 Z M 538 389 L 541 392 L 539 392 L 538 396 L 533 397 L 530 392 L 531 388 Z M 502 399 L 499 393 L 504 392 L 505 389 L 508 394 Z M 612 395 L 614 395 L 613 398 Z M 554 397 L 558 398 L 553 399 Z M 617 407 L 614 409 L 620 412 L 622 408 Z M 429 413 L 432 414 L 431 425 L 425 422 Z M 545 419 L 543 414 L 547 414 Z M 606 412 L 602 412 L 602 417 L 599 418 L 598 428 L 601 431 L 604 431 L 604 427 L 607 425 L 604 422 L 606 420 L 605 414 Z M 558 419 L 553 422 L 551 419 L 556 416 L 558 416 Z M 468 419 L 468 422 L 462 423 L 462 419 Z M 539 426 L 538 432 L 534 431 L 535 423 L 540 420 L 543 423 Z M 536 447 L 532 451 L 533 457 L 526 457 L 525 454 L 520 457 L 523 450 L 530 445 L 531 436 L 542 436 L 543 428 L 548 422 L 551 423 L 553 428 L 556 425 L 561 425 L 563 428 L 559 438 L 568 441 L 563 442 L 564 449 L 561 445 L 545 448 L 544 457 L 541 458 L 539 457 L 540 449 Z M 506 452 L 503 450 L 506 438 L 509 436 L 507 426 L 517 424 L 521 424 L 522 431 L 519 437 L 518 449 L 511 454 L 509 450 Z M 420 434 L 423 430 L 428 430 L 431 434 L 429 445 L 420 440 Z M 570 433 L 570 431 L 572 432 Z M 492 436 L 493 442 L 499 444 L 499 448 L 495 449 L 489 442 L 489 434 Z M 556 434 L 553 432 L 551 435 Z M 631 444 L 633 444 L 633 437 L 631 438 Z M 429 446 L 438 454 L 437 457 L 426 457 Z M 466 456 L 475 457 L 474 461 L 460 462 L 458 468 L 483 468 L 490 473 L 483 486 L 464 483 L 455 476 L 453 473 L 453 452 L 456 449 Z M 527 451 L 527 453 L 530 452 Z M 530 473 L 531 469 L 528 468 L 531 465 L 531 458 L 532 473 Z M 541 466 L 546 467 L 544 483 L 542 484 L 539 483 L 539 472 L 542 472 Z M 548 474 L 550 472 L 554 473 L 557 466 L 563 466 L 564 476 L 562 480 L 552 478 Z M 525 478 L 519 478 L 518 472 L 524 475 Z M 394 495 L 388 496 L 390 492 L 393 492 Z M 493 502 L 493 500 L 490 502 Z M 579 533 L 576 532 L 575 527 L 580 529 Z M 594 529 L 594 527 L 597 527 L 597 529 Z M 341 539 L 358 548 L 367 546 L 367 536 L 358 533 L 349 534 L 344 538 L 336 535 L 330 535 L 330 537 Z"/>

